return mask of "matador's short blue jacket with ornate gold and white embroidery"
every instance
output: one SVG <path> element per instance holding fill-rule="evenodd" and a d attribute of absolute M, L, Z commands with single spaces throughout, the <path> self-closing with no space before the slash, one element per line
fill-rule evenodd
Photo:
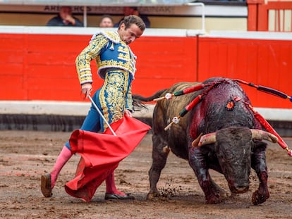
<path fill-rule="evenodd" d="M 90 44 L 76 58 L 76 69 L 80 85 L 92 82 L 90 61 L 95 59 L 97 74 L 104 79 L 109 68 L 126 70 L 135 75 L 136 56 L 130 47 L 121 40 L 118 32 L 101 31 L 92 36 Z"/>

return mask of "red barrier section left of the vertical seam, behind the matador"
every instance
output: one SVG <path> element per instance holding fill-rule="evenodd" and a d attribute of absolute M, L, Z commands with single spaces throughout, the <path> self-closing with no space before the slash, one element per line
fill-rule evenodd
<path fill-rule="evenodd" d="M 0 99 L 80 101 L 75 58 L 90 37 L 1 34 Z M 133 93 L 150 95 L 196 80 L 197 37 L 141 37 L 131 48 L 138 56 Z M 96 72 L 92 61 L 94 89 L 102 85 Z"/>

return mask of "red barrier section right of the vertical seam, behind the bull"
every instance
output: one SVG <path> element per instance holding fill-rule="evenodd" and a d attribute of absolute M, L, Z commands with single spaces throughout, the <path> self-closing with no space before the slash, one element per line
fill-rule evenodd
<path fill-rule="evenodd" d="M 292 94 L 292 41 L 201 37 L 198 80 L 230 77 Z M 288 100 L 243 85 L 253 106 L 292 108 Z"/>

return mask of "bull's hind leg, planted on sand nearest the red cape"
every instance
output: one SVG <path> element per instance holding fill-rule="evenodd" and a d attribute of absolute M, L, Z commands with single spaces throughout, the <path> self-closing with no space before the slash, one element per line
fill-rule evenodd
<path fill-rule="evenodd" d="M 162 173 L 162 169 L 166 164 L 166 159 L 170 151 L 162 137 L 153 134 L 152 142 L 152 166 L 149 170 L 150 192 L 147 194 L 147 199 L 150 200 L 159 196 L 157 182 Z"/>

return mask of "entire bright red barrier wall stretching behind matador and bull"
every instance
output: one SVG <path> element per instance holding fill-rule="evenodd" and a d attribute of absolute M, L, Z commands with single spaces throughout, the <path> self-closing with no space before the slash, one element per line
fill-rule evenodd
<path fill-rule="evenodd" d="M 91 35 L 0 34 L 0 99 L 82 101 L 75 57 Z M 133 93 L 181 81 L 239 78 L 292 94 L 292 41 L 214 37 L 141 37 Z M 198 54 L 198 55 L 197 55 Z M 102 85 L 92 62 L 94 89 Z M 253 106 L 292 108 L 288 100 L 243 85 Z"/>

